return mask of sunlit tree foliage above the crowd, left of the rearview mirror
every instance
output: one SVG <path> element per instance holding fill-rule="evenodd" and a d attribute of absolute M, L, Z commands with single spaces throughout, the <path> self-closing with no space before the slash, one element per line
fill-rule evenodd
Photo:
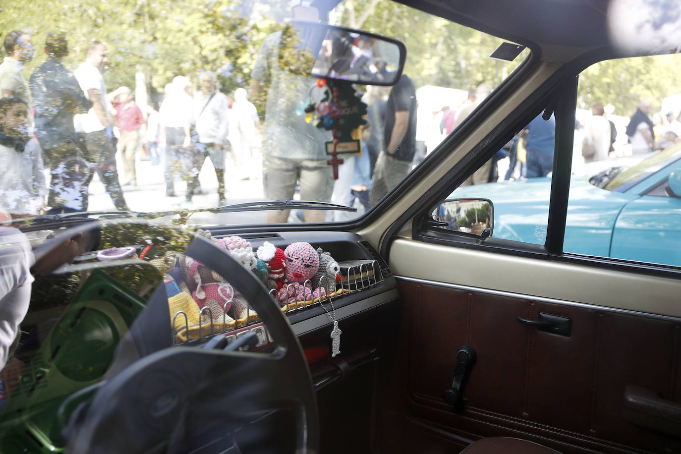
<path fill-rule="evenodd" d="M 36 58 L 30 73 L 43 63 L 48 31 L 65 31 L 75 68 L 84 60 L 89 42 L 106 42 L 110 54 L 105 79 L 110 87 L 134 86 L 142 71 L 161 90 L 174 76 L 193 77 L 217 71 L 223 90 L 246 86 L 260 42 L 276 28 L 274 20 L 249 20 L 253 7 L 236 0 L 36 0 L 0 6 L 0 31 L 33 35 Z M 259 14 L 262 14 L 260 11 Z"/>

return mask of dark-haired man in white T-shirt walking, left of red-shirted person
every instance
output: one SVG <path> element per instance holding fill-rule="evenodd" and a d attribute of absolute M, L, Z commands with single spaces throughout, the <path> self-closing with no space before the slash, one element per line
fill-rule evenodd
<path fill-rule="evenodd" d="M 121 93 L 121 88 L 106 94 L 106 84 L 101 71 L 104 70 L 108 61 L 106 44 L 93 41 L 87 48 L 85 62 L 74 71 L 74 76 L 85 93 L 85 97 L 93 103 L 88 113 L 74 116 L 74 127 L 87 150 L 86 161 L 99 174 L 114 206 L 118 210 L 127 211 L 129 208 L 123 198 L 121 184 L 118 182 L 114 123 L 111 118 L 111 99 Z M 85 191 L 93 177 L 92 172 L 88 174 L 86 184 L 84 184 Z M 87 210 L 87 206 L 87 195 L 84 194 L 81 210 Z"/>

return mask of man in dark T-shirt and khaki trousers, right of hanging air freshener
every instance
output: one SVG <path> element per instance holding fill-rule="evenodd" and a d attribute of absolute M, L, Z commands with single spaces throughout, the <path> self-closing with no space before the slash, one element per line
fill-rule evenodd
<path fill-rule="evenodd" d="M 416 89 L 405 74 L 391 88 L 381 150 L 374 174 L 370 203 L 374 206 L 411 170 L 416 152 Z"/>

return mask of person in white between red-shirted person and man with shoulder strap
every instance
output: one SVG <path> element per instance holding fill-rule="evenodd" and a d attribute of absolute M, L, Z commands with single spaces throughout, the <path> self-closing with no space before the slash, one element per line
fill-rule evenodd
<path fill-rule="evenodd" d="M 191 146 L 191 113 L 193 102 L 187 95 L 189 79 L 176 76 L 172 84 L 165 86 L 165 99 L 159 109 L 160 129 L 159 147 L 165 148 L 163 176 L 165 178 L 165 195 L 175 196 L 175 169 L 180 148 Z M 189 176 L 182 175 L 184 178 Z M 191 197 L 191 196 L 190 196 Z"/>

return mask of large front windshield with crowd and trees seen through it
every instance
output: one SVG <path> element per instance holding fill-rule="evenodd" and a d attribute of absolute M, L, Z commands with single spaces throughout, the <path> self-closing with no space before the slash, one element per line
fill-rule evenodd
<path fill-rule="evenodd" d="M 357 211 L 192 221 L 360 216 L 529 53 L 507 44 L 511 56 L 492 59 L 503 40 L 391 1 L 39 0 L 0 10 L 0 88 L 8 99 L 0 103 L 7 169 L 0 202 L 15 218 L 281 199 Z M 315 36 L 296 34 L 306 22 L 399 40 L 407 49 L 402 77 L 394 78 L 398 46 L 359 32 L 328 33 L 315 44 L 320 57 L 345 52 L 333 67 L 318 59 L 315 68 L 347 82 L 312 77 L 315 50 L 298 44 Z M 394 84 L 350 83 L 362 77 Z M 342 88 L 339 101 L 334 87 Z M 345 125 L 351 138 L 331 159 L 336 106 L 353 110 L 356 124 Z"/>

